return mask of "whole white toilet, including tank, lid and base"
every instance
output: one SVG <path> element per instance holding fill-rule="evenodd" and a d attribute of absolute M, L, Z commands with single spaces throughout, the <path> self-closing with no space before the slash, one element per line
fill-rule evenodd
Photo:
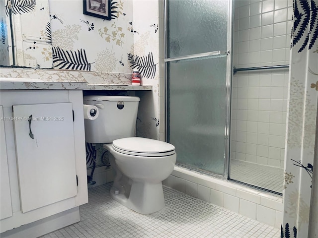
<path fill-rule="evenodd" d="M 159 140 L 133 137 L 140 99 L 131 96 L 84 96 L 84 104 L 99 109 L 95 120 L 85 119 L 85 138 L 104 143 L 116 176 L 110 195 L 142 214 L 164 207 L 162 180 L 173 171 L 174 146 Z"/>

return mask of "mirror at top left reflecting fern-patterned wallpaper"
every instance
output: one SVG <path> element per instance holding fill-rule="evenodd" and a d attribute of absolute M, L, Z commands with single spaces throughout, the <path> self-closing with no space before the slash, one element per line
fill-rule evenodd
<path fill-rule="evenodd" d="M 52 68 L 48 0 L 0 0 L 0 65 Z"/>

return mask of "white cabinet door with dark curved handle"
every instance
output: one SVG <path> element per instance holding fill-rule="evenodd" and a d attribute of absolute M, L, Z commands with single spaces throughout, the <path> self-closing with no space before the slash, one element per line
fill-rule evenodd
<path fill-rule="evenodd" d="M 22 212 L 77 194 L 72 103 L 13 106 Z"/>

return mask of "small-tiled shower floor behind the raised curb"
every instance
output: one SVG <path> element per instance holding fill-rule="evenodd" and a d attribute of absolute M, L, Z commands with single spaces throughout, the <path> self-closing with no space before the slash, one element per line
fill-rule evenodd
<path fill-rule="evenodd" d="M 240 160 L 231 160 L 231 179 L 283 192 L 284 172 L 282 168 L 259 165 Z"/>

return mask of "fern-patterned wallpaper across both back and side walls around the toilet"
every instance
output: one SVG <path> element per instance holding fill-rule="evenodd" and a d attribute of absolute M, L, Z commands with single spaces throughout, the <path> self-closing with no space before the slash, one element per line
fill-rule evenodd
<path fill-rule="evenodd" d="M 152 92 L 138 95 L 137 133 L 159 139 L 158 1 L 112 0 L 111 21 L 84 15 L 82 0 L 49 0 L 49 6 L 54 69 L 121 73 L 130 78 L 137 67 L 142 83 L 153 85 Z M 122 81 L 114 78 L 112 83 Z"/>

